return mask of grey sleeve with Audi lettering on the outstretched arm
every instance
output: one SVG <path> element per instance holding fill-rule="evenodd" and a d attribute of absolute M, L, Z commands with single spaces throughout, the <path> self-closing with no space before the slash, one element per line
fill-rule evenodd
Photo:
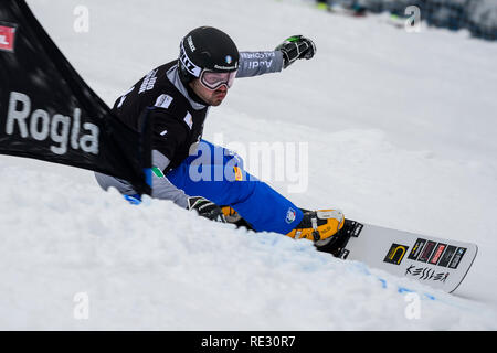
<path fill-rule="evenodd" d="M 240 52 L 240 65 L 236 78 L 278 73 L 282 69 L 283 53 L 281 51 Z"/>

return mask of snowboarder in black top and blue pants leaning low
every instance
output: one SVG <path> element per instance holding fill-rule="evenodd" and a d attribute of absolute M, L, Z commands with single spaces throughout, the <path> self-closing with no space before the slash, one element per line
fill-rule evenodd
<path fill-rule="evenodd" d="M 288 38 L 274 51 L 239 52 L 232 39 L 215 28 L 188 33 L 177 60 L 149 72 L 113 107 L 134 128 L 145 109 L 154 116 L 151 196 L 220 222 L 228 216 L 221 206 L 230 206 L 257 232 L 315 242 L 335 235 L 343 226 L 341 212 L 300 210 L 248 174 L 239 156 L 202 139 L 209 109 L 224 100 L 235 77 L 281 72 L 315 53 L 314 42 L 302 35 Z M 103 189 L 114 186 L 129 200 L 139 200 L 128 182 L 95 174 Z"/>

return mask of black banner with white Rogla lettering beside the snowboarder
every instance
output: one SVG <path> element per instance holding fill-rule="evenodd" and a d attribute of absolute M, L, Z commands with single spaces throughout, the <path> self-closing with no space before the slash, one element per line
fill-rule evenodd
<path fill-rule="evenodd" d="M 135 131 L 114 117 L 24 0 L 0 1 L 0 153 L 114 175 L 149 194 L 150 125 Z"/>

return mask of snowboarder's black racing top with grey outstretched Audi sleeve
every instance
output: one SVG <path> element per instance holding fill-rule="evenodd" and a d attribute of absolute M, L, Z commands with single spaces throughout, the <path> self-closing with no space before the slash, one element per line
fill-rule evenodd
<path fill-rule="evenodd" d="M 152 115 L 152 149 L 169 160 L 167 172 L 178 167 L 202 138 L 210 107 L 183 85 L 178 61 L 150 71 L 125 95 L 117 98 L 113 113 L 126 125 L 139 130 L 145 109 Z M 239 77 L 252 77 L 283 68 L 283 55 L 274 52 L 241 52 Z"/>

